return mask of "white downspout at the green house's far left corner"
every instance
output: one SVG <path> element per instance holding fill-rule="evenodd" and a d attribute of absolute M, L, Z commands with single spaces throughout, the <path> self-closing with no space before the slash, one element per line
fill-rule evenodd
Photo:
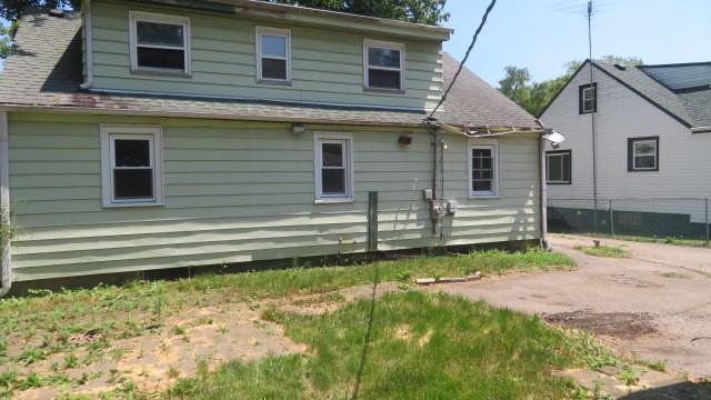
<path fill-rule="evenodd" d="M 0 219 L 10 223 L 10 159 L 8 146 L 8 112 L 0 111 Z M 12 264 L 10 263 L 10 238 L 2 238 L 2 279 L 0 297 L 12 287 Z"/>

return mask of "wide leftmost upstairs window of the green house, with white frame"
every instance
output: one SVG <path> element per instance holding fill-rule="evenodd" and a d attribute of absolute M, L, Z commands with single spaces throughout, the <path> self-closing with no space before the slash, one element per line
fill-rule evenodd
<path fill-rule="evenodd" d="M 190 73 L 190 20 L 148 12 L 130 13 L 133 71 Z"/>

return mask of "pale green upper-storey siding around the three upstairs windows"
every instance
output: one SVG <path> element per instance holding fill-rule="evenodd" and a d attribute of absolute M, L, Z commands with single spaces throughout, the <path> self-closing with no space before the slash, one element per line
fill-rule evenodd
<path fill-rule="evenodd" d="M 129 11 L 190 17 L 190 77 L 131 73 Z M 144 4 L 92 2 L 93 87 L 97 89 L 181 94 L 277 99 L 424 109 L 433 107 L 442 90 L 441 44 L 391 38 L 279 26 L 291 30 L 292 82 L 257 82 L 256 27 L 238 17 L 181 13 Z M 403 42 L 404 93 L 363 89 L 363 40 Z"/>

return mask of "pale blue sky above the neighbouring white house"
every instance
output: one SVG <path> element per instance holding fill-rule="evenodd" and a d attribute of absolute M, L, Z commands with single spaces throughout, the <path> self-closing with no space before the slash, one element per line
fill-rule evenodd
<path fill-rule="evenodd" d="M 645 63 L 711 61 L 710 0 L 598 0 L 593 57 L 637 56 Z M 444 50 L 461 60 L 489 0 L 448 0 L 455 29 Z M 499 0 L 467 67 L 498 86 L 505 66 L 534 80 L 588 58 L 587 0 Z"/>

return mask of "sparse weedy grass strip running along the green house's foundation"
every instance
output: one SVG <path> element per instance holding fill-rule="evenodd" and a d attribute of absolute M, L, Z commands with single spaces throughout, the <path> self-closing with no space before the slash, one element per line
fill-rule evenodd
<path fill-rule="evenodd" d="M 78 376 L 77 370 L 90 369 L 101 361 L 116 362 L 130 350 L 116 343 L 120 339 L 164 334 L 189 341 L 187 326 L 166 321 L 201 308 L 222 309 L 229 303 L 304 294 L 339 300 L 338 294 L 329 293 L 372 282 L 375 272 L 381 281 L 409 281 L 475 271 L 491 274 L 565 269 L 573 264 L 572 259 L 559 253 L 490 250 L 348 267 L 309 268 L 294 263 L 286 270 L 134 281 L 57 292 L 38 290 L 23 298 L 0 299 L 0 398 L 38 386 L 58 386 L 59 381 L 80 388 L 92 377 Z M 218 329 L 227 333 L 227 328 Z M 69 377 L 58 374 L 64 372 Z"/>

